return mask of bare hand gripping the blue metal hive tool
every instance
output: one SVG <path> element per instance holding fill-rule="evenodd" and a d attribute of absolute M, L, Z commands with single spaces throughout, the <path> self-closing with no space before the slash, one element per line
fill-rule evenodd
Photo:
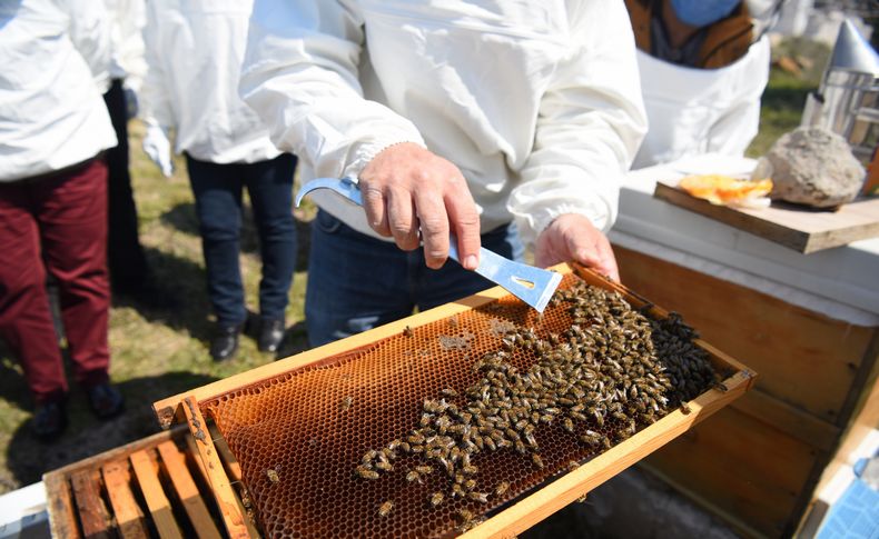
<path fill-rule="evenodd" d="M 428 268 L 448 257 L 448 234 L 457 237 L 461 264 L 475 269 L 480 257 L 480 216 L 467 182 L 457 167 L 404 142 L 379 152 L 359 174 L 369 226 L 411 251 L 424 241 Z"/>

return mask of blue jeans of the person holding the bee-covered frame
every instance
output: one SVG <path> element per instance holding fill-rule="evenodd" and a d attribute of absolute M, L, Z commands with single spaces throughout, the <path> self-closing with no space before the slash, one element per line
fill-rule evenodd
<path fill-rule="evenodd" d="M 522 260 L 524 248 L 513 223 L 482 236 L 482 246 Z M 495 285 L 454 260 L 438 270 L 425 266 L 424 249 L 357 232 L 325 211 L 312 222 L 305 320 L 313 347 L 325 345 Z"/>

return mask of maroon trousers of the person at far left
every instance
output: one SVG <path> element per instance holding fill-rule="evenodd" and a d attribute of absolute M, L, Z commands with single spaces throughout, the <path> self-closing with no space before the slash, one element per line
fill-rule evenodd
<path fill-rule="evenodd" d="M 20 358 L 37 402 L 68 389 L 46 272 L 59 289 L 76 380 L 108 379 L 107 166 L 102 159 L 46 178 L 0 182 L 0 338 Z"/>

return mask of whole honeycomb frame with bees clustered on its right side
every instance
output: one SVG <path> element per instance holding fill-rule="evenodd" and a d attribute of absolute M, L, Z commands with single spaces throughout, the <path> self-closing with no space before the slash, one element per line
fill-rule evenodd
<path fill-rule="evenodd" d="M 248 519 L 270 537 L 518 533 L 741 396 L 754 380 L 710 345 L 690 345 L 674 316 L 624 287 L 580 267 L 555 269 L 565 273 L 560 290 L 589 290 L 606 305 L 599 311 L 594 303 L 577 308 L 569 295 L 541 316 L 492 289 L 159 401 L 155 409 L 165 426 L 189 423 L 231 537 L 248 536 Z M 639 341 L 620 323 L 654 328 L 645 335 L 664 336 L 655 346 L 670 356 L 653 365 L 652 351 L 635 352 L 652 350 L 653 340 Z M 572 348 L 574 341 L 580 348 Z M 640 345 L 630 350 L 630 341 Z M 675 355 L 699 360 L 679 363 Z M 583 369 L 584 362 L 591 367 Z M 620 362 L 641 369 L 634 375 L 641 381 L 623 386 Z M 515 382 L 495 385 L 502 373 Z M 571 389 L 574 373 L 583 388 L 610 392 L 581 396 Z M 608 386 L 599 387 L 596 376 Z M 631 376 L 625 375 L 630 381 Z M 669 392 L 664 402 L 650 377 L 670 378 L 665 386 L 682 392 Z M 697 379 L 700 387 L 692 383 Z M 543 392 L 526 397 L 533 391 Z M 577 408 L 580 397 L 584 406 Z M 518 406 L 526 398 L 539 413 Z M 639 401 L 646 403 L 640 411 Z M 209 422 L 240 463 L 253 500 L 247 515 L 206 433 Z M 413 476 L 418 466 L 433 470 Z"/>

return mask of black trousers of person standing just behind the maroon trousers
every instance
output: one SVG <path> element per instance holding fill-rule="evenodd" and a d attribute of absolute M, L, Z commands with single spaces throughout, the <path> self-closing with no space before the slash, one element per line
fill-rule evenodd
<path fill-rule="evenodd" d="M 122 81 L 113 79 L 103 94 L 119 144 L 106 152 L 108 180 L 107 263 L 113 288 L 137 290 L 147 278 L 147 259 L 137 231 L 137 207 L 128 171 L 128 112 Z"/>

